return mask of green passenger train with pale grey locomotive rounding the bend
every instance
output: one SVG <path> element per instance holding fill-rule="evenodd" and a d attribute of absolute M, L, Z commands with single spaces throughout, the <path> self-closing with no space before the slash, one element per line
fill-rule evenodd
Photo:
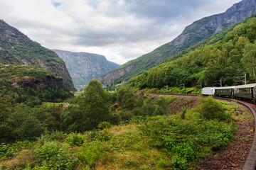
<path fill-rule="evenodd" d="M 220 96 L 256 101 L 256 84 L 239 86 L 204 87 L 201 91 L 204 96 Z"/>

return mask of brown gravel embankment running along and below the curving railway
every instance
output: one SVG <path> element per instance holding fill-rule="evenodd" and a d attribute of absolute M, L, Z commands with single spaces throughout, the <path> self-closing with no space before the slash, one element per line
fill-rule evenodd
<path fill-rule="evenodd" d="M 149 94 L 148 94 L 149 95 Z M 179 101 L 170 103 L 170 113 L 178 113 L 182 107 L 192 108 L 198 101 L 196 95 L 182 94 L 150 94 L 159 98 L 161 96 L 172 96 Z M 256 162 L 256 140 L 255 140 L 255 111 L 256 106 L 245 101 L 234 101 L 229 98 L 216 98 L 221 101 L 228 101 L 227 104 L 236 105 L 234 120 L 237 125 L 235 137 L 230 145 L 213 154 L 207 159 L 202 160 L 201 169 L 255 169 Z"/>

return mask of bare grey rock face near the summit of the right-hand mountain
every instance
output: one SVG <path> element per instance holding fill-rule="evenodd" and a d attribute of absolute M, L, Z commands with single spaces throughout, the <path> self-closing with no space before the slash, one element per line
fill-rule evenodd
<path fill-rule="evenodd" d="M 220 30 L 228 28 L 234 23 L 238 23 L 238 21 L 242 21 L 243 19 L 252 16 L 252 14 L 255 13 L 255 9 L 255 0 L 240 1 L 238 4 L 234 4 L 232 7 L 228 8 L 225 13 L 208 16 L 195 21 L 190 26 L 187 26 L 181 35 L 178 35 L 177 38 L 169 43 L 177 46 L 193 40 L 191 45 L 194 45 L 200 40 L 209 38 L 213 33 L 218 33 Z"/>

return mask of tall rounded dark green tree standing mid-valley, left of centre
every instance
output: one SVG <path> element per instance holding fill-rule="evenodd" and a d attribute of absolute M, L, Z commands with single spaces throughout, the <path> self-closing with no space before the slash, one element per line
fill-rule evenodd
<path fill-rule="evenodd" d="M 85 92 L 78 97 L 76 105 L 69 106 L 61 115 L 63 130 L 84 132 L 97 128 L 110 115 L 109 94 L 97 80 L 92 80 Z"/>

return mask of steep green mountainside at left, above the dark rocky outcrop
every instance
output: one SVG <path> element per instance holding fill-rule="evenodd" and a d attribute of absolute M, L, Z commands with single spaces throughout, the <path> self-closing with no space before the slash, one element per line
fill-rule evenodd
<path fill-rule="evenodd" d="M 39 67 L 60 77 L 65 89 L 75 90 L 68 69 L 58 55 L 0 20 L 0 64 Z"/>

